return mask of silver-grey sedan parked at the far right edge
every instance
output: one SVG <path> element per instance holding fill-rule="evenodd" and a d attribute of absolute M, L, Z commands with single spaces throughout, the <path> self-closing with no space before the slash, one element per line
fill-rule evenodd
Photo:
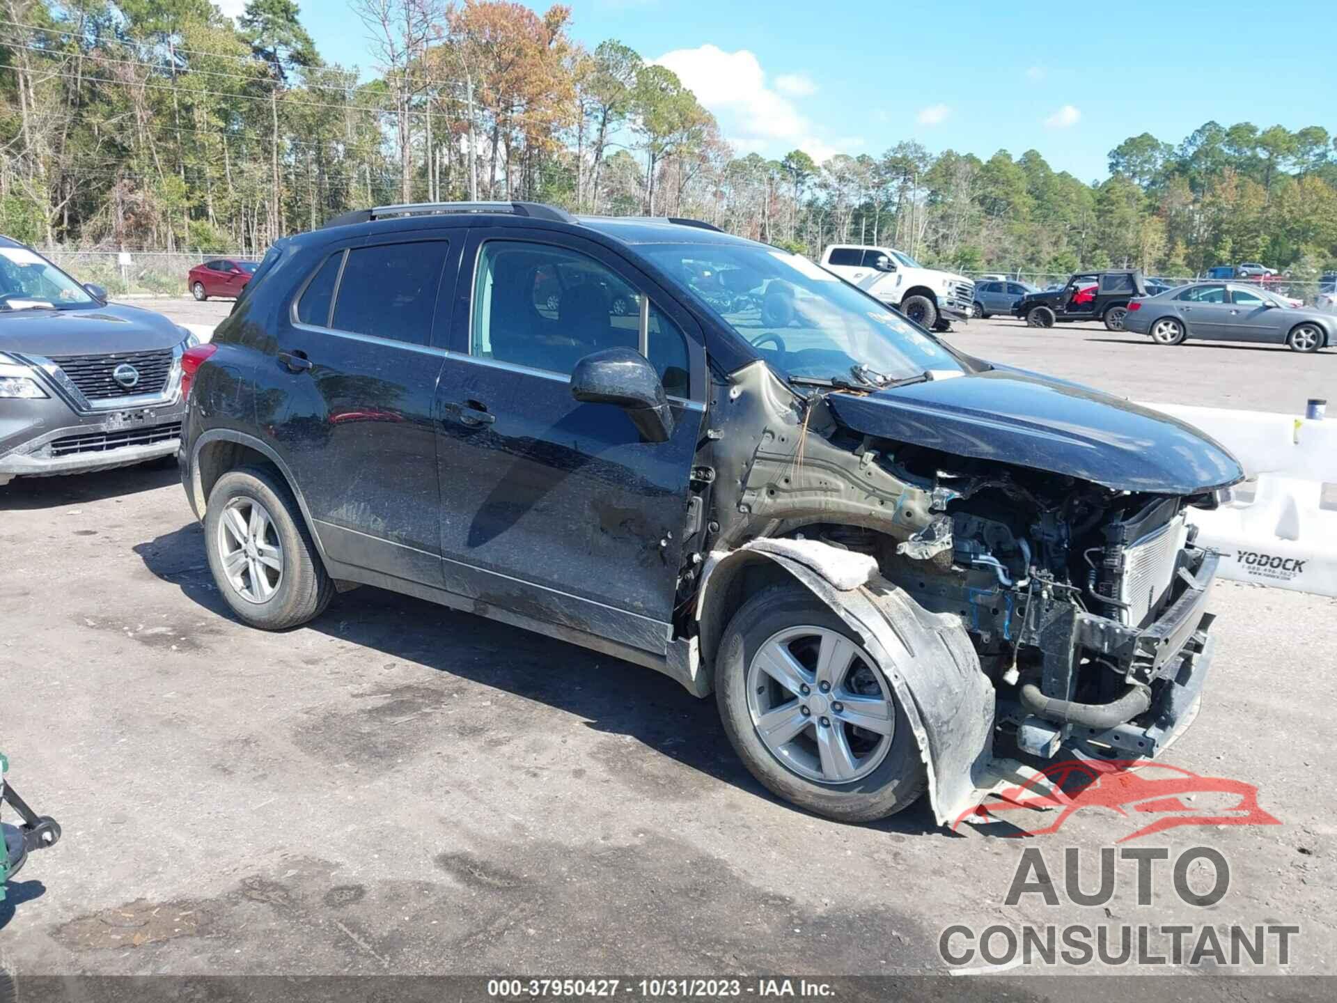
<path fill-rule="evenodd" d="M 1257 341 L 1317 352 L 1337 344 L 1337 317 L 1292 308 L 1280 296 L 1242 282 L 1195 282 L 1134 300 L 1123 329 L 1159 345 L 1185 338 Z"/>

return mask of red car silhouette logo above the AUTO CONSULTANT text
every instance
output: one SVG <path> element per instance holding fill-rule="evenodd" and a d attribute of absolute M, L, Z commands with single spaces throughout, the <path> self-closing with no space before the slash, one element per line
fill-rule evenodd
<path fill-rule="evenodd" d="M 1159 776 L 1158 776 L 1159 774 Z M 1198 773 L 1144 761 L 1067 760 L 1051 762 L 1040 773 L 999 793 L 1001 801 L 964 812 L 961 822 L 995 821 L 1003 812 L 1058 808 L 1048 825 L 1017 826 L 1011 836 L 1043 836 L 1058 832 L 1083 808 L 1104 808 L 1124 818 L 1139 814 L 1154 818 L 1136 832 L 1122 836 L 1127 843 L 1181 825 L 1281 825 L 1281 820 L 1258 805 L 1258 788 L 1241 780 L 1203 777 Z M 1016 825 L 1016 817 L 1008 818 Z"/>

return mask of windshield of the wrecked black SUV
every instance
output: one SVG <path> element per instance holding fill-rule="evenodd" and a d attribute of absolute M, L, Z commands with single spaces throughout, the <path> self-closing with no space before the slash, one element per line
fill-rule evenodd
<path fill-rule="evenodd" d="M 639 250 L 786 376 L 881 382 L 964 372 L 936 338 L 798 254 L 729 243 Z"/>

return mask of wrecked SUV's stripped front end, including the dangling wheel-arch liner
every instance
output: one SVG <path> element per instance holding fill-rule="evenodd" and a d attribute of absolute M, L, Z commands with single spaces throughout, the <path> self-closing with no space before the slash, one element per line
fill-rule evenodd
<path fill-rule="evenodd" d="M 841 420 L 850 401 L 866 416 L 874 396 L 802 396 L 763 365 L 734 373 L 713 411 L 718 531 L 697 592 L 705 659 L 746 568 L 783 568 L 878 658 L 943 824 L 1035 778 L 1032 764 L 1063 748 L 1162 753 L 1197 714 L 1211 661 L 1217 555 L 1195 546 L 1186 510 L 1214 504 L 1215 484 L 1181 471 L 1151 489 L 1155 476 L 1122 447 L 1120 483 L 1102 484 L 1062 460 L 1040 468 L 1035 451 L 1036 465 L 1009 463 L 981 436 L 977 455 L 961 455 L 939 448 L 947 435 L 924 445 Z M 1088 412 L 1124 411 L 1084 400 Z M 931 424 L 925 411 L 917 420 Z M 1003 437 L 1017 435 L 1038 439 L 1036 423 Z M 1237 479 L 1223 451 L 1195 461 L 1207 479 Z"/>

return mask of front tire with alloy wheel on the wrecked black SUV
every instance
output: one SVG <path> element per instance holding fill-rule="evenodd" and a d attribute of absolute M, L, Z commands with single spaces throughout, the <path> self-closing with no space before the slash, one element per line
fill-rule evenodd
<path fill-rule="evenodd" d="M 928 786 L 882 667 L 798 583 L 762 590 L 730 621 L 715 702 L 747 770 L 800 808 L 866 822 L 908 808 Z"/>

